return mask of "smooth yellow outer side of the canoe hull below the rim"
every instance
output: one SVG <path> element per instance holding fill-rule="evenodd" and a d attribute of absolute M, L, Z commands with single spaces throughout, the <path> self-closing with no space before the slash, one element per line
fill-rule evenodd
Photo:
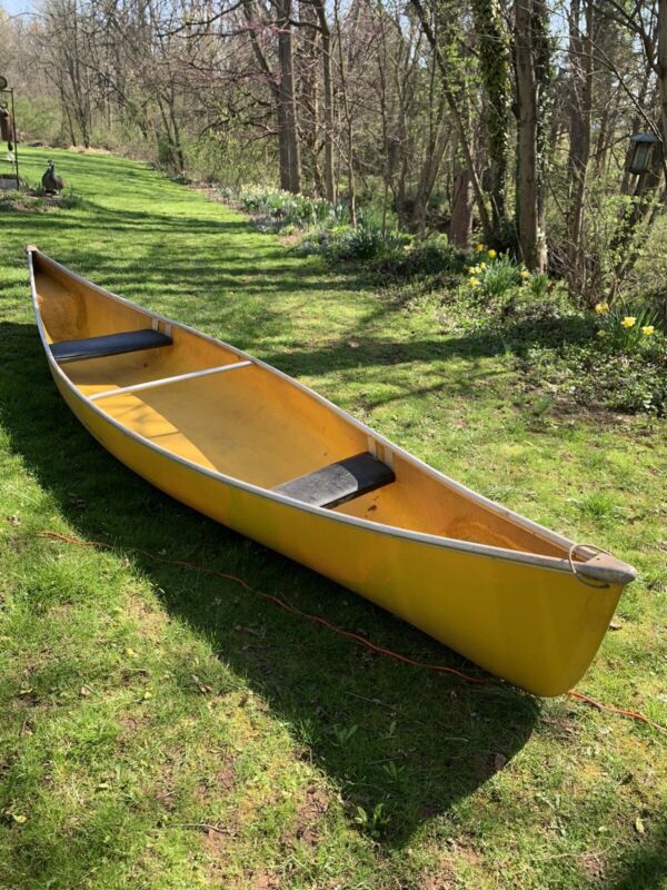
<path fill-rule="evenodd" d="M 129 435 L 52 364 L 51 372 L 83 426 L 156 487 L 361 594 L 491 673 L 538 695 L 558 695 L 595 656 L 621 584 L 588 586 L 568 572 L 337 522 L 262 496 Z"/>

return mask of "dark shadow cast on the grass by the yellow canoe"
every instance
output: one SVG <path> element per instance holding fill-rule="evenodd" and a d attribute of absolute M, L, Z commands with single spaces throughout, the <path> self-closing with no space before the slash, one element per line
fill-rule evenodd
<path fill-rule="evenodd" d="M 145 483 L 58 397 L 33 326 L 0 324 L 0 339 L 1 421 L 29 472 L 78 534 L 131 556 L 165 607 L 289 723 L 297 750 L 338 784 L 350 818 L 357 807 L 378 813 L 380 842 L 401 847 L 429 818 L 455 818 L 456 802 L 521 750 L 539 712 L 532 696 L 398 664 L 231 582 L 133 554 L 167 548 L 170 558 L 236 574 L 381 646 L 478 673 L 387 612 Z"/>

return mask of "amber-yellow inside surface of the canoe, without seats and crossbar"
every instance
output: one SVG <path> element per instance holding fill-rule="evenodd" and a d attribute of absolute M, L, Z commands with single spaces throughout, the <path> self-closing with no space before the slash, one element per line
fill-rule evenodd
<path fill-rule="evenodd" d="M 61 365 L 84 396 L 237 363 L 246 356 L 118 300 L 33 255 L 36 295 L 48 343 L 146 328 L 170 346 Z M 168 329 L 166 329 L 168 328 Z M 208 469 L 265 488 L 372 451 L 396 479 L 334 510 L 381 525 L 563 557 L 565 546 L 480 504 L 381 442 L 344 413 L 270 368 L 232 370 L 119 393 L 93 403 L 127 429 Z"/>

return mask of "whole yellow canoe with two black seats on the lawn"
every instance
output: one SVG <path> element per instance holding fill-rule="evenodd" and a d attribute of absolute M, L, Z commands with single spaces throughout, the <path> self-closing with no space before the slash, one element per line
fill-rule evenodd
<path fill-rule="evenodd" d="M 36 247 L 28 264 L 60 394 L 136 473 L 530 692 L 583 676 L 631 566 L 444 476 L 240 349 Z"/>

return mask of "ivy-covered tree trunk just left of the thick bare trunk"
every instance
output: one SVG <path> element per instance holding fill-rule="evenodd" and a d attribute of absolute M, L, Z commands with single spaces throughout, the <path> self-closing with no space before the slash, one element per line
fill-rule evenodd
<path fill-rule="evenodd" d="M 489 161 L 487 192 L 497 241 L 507 238 L 507 167 L 511 109 L 511 55 L 498 0 L 472 0 L 479 41 L 479 66 L 485 91 L 484 123 Z"/>

